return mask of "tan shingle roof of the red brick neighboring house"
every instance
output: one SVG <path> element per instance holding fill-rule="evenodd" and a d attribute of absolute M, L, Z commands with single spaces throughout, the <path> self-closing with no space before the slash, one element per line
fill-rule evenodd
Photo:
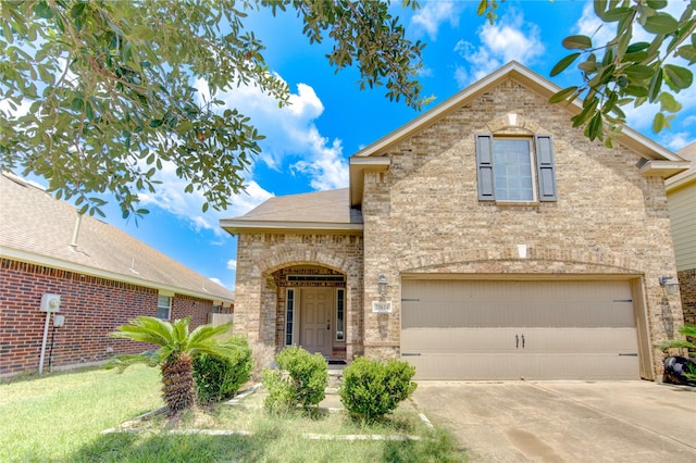
<path fill-rule="evenodd" d="M 0 175 L 0 255 L 215 302 L 234 293 L 130 235 L 9 173 Z"/>

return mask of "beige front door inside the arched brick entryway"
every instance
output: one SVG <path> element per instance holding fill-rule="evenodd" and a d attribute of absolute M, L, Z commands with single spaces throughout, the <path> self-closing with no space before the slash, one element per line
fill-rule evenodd
<path fill-rule="evenodd" d="M 303 288 L 300 300 L 300 346 L 309 352 L 331 356 L 334 289 Z"/>

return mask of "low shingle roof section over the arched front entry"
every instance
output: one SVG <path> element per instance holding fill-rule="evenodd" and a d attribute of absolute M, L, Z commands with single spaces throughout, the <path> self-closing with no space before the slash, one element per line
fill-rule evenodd
<path fill-rule="evenodd" d="M 239 230 L 283 229 L 355 233 L 362 230 L 362 214 L 348 205 L 348 188 L 273 197 L 245 215 L 223 218 L 231 234 Z"/>

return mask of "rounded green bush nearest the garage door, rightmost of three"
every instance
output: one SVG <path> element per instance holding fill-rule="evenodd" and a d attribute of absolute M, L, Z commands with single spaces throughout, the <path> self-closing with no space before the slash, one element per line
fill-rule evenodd
<path fill-rule="evenodd" d="M 399 360 L 382 363 L 359 358 L 344 370 L 340 401 L 353 417 L 374 422 L 413 393 L 414 374 L 415 367 Z"/>

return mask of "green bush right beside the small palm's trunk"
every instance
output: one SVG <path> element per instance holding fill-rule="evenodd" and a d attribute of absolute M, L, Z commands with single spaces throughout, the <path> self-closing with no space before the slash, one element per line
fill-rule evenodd
<path fill-rule="evenodd" d="M 194 378 L 198 387 L 198 401 L 201 403 L 234 397 L 251 377 L 253 361 L 247 339 L 244 336 L 232 336 L 224 343 L 234 346 L 233 356 L 202 353 L 194 358 Z"/>

